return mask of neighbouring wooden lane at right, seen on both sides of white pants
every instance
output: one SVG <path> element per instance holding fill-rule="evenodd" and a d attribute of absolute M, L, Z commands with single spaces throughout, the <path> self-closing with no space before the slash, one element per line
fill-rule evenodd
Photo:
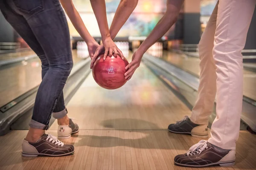
<path fill-rule="evenodd" d="M 177 65 L 184 71 L 199 77 L 200 74 L 200 59 L 197 57 L 188 57 L 185 54 L 177 54 L 171 51 L 151 51 L 151 54 L 158 55 L 160 58 Z M 256 73 L 244 69 L 244 96 L 256 101 Z"/>

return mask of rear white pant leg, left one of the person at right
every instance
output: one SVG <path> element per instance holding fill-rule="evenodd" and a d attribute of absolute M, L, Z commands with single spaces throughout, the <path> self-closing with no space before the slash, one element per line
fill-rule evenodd
<path fill-rule="evenodd" d="M 214 34 L 216 28 L 218 3 L 207 23 L 198 44 L 200 58 L 200 82 L 198 87 L 198 99 L 192 109 L 191 121 L 199 125 L 208 125 L 209 116 L 216 95 L 216 66 L 212 57 Z"/>

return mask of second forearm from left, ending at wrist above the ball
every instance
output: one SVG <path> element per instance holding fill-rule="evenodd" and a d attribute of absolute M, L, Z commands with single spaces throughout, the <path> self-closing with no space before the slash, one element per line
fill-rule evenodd
<path fill-rule="evenodd" d="M 105 0 L 90 0 L 90 3 L 99 25 L 102 40 L 104 41 L 106 38 L 110 37 Z"/>

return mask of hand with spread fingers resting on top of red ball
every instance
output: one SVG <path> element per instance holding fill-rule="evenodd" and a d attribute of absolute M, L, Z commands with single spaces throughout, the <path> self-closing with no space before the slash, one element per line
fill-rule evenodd
<path fill-rule="evenodd" d="M 106 59 L 107 56 L 111 57 L 113 55 L 114 57 L 116 57 L 118 54 L 122 59 L 124 59 L 122 51 L 116 47 L 116 44 L 113 42 L 111 37 L 105 38 L 105 40 L 103 40 L 102 43 L 105 47 L 105 53 L 103 57 L 104 60 Z"/>

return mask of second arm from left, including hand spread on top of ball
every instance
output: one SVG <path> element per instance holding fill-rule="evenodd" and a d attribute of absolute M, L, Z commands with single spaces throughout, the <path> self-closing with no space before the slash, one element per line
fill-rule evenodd
<path fill-rule="evenodd" d="M 120 57 L 123 58 L 122 52 L 116 47 L 116 44 L 110 37 L 105 0 L 90 0 L 90 3 L 99 25 L 100 34 L 102 35 L 102 43 L 105 47 L 103 59 L 105 59 L 107 55 L 111 57 L 112 55 L 117 56 L 117 54 L 120 54 Z M 94 54 L 93 57 L 97 56 Z"/>

